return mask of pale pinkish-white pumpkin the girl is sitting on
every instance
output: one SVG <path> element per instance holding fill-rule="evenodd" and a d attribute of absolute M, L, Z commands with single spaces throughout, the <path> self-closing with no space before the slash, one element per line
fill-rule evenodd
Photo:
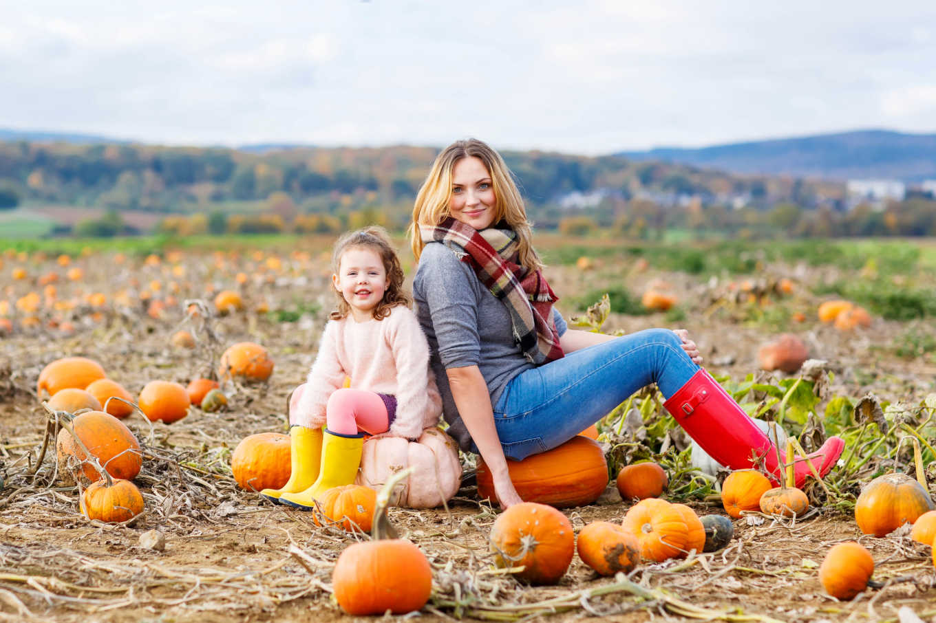
<path fill-rule="evenodd" d="M 451 500 L 461 486 L 461 463 L 456 443 L 441 428 L 426 428 L 416 442 L 381 437 L 364 442 L 356 485 L 379 490 L 394 473 L 415 467 L 393 489 L 389 506 L 434 508 Z"/>

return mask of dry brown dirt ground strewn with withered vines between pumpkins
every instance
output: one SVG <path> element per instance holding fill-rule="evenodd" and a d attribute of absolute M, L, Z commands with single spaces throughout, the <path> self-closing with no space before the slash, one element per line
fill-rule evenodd
<path fill-rule="evenodd" d="M 560 293 L 586 292 L 614 279 L 608 270 L 584 276 L 573 268 L 552 270 Z M 658 276 L 627 279 L 639 290 L 653 277 Z M 733 377 L 756 370 L 756 347 L 771 334 L 707 313 L 706 284 L 682 275 L 665 277 L 677 291 L 697 297 L 680 324 L 692 330 L 709 369 Z M 111 279 L 119 282 L 125 276 Z M 301 283 L 284 278 L 268 283 L 263 292 L 275 304 L 311 290 L 327 306 L 323 283 L 320 274 Z M 560 309 L 571 315 L 562 303 Z M 59 356 L 86 355 L 137 393 L 151 379 L 187 383 L 210 369 L 216 353 L 209 346 L 191 352 L 168 346 L 168 336 L 183 322 L 181 313 L 163 320 L 114 313 L 105 322 L 80 325 L 71 336 L 43 329 L 0 341 L 0 475 L 5 480 L 0 488 L 0 620 L 350 620 L 331 599 L 330 575 L 344 547 L 366 537 L 315 526 L 310 514 L 243 492 L 226 475 L 229 453 L 243 437 L 285 431 L 286 397 L 313 360 L 323 318 L 319 312 L 276 323 L 243 313 L 217 323 L 222 343 L 250 339 L 270 350 L 276 363 L 271 382 L 227 387 L 230 404 L 224 413 L 193 409 L 170 426 L 150 427 L 137 415 L 127 420 L 144 448 L 144 468 L 136 482 L 147 509 L 129 526 L 89 523 L 79 512 L 76 489 L 49 482 L 49 456 L 36 477 L 25 475 L 36 460 L 46 420 L 35 394 L 40 369 Z M 663 314 L 614 315 L 606 328 L 630 332 L 664 322 Z M 936 369 L 925 361 L 908 365 L 889 352 L 886 346 L 900 330 L 875 319 L 870 329 L 843 339 L 810 320 L 797 333 L 813 357 L 838 370 L 835 385 L 841 394 L 858 398 L 872 390 L 889 400 L 918 399 L 933 391 Z M 724 514 L 717 502 L 689 504 L 698 514 Z M 627 508 L 611 485 L 596 504 L 564 512 L 579 529 L 599 519 L 620 521 Z M 495 517 L 496 511 L 477 500 L 470 482 L 447 510 L 390 511 L 391 522 L 419 545 L 433 568 L 433 598 L 419 620 L 878 621 L 897 620 L 901 606 L 936 620 L 929 547 L 907 536 L 861 535 L 854 517 L 831 509 L 818 509 L 795 523 L 742 518 L 734 523 L 734 540 L 720 552 L 642 565 L 629 579 L 652 591 L 643 598 L 628 592 L 631 585 L 622 578 L 599 578 L 578 557 L 556 587 L 520 585 L 492 566 L 487 539 Z M 140 536 L 152 529 L 165 535 L 164 550 L 140 545 Z M 874 579 L 884 585 L 851 602 L 826 596 L 817 579 L 827 548 L 844 540 L 870 549 L 877 565 Z M 674 600 L 704 611 L 688 616 Z"/>

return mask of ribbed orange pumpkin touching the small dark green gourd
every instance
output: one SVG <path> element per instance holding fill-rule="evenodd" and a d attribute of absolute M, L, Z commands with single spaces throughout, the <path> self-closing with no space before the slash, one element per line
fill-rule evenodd
<path fill-rule="evenodd" d="M 680 556 L 689 538 L 680 510 L 659 498 L 638 501 L 624 515 L 622 526 L 636 536 L 640 555 L 654 562 Z"/>

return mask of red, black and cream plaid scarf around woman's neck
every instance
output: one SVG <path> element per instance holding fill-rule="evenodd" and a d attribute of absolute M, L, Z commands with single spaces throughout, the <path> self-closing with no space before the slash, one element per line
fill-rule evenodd
<path fill-rule="evenodd" d="M 504 226 L 504 224 L 499 224 Z M 539 366 L 563 356 L 559 332 L 552 319 L 552 304 L 558 297 L 539 270 L 519 265 L 517 233 L 507 227 L 477 231 L 449 217 L 439 225 L 420 225 L 423 242 L 442 242 L 510 312 L 514 342 L 523 355 Z"/>

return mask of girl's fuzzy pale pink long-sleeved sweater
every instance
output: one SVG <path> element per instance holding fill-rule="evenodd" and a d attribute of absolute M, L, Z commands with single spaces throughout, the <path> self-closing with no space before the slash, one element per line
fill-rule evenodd
<path fill-rule="evenodd" d="M 397 398 L 389 434 L 415 440 L 439 423 L 442 398 L 429 367 L 429 344 L 409 308 L 397 306 L 383 320 L 364 323 L 350 315 L 329 320 L 293 423 L 324 425 L 329 396 L 345 376 L 355 389 Z"/>

